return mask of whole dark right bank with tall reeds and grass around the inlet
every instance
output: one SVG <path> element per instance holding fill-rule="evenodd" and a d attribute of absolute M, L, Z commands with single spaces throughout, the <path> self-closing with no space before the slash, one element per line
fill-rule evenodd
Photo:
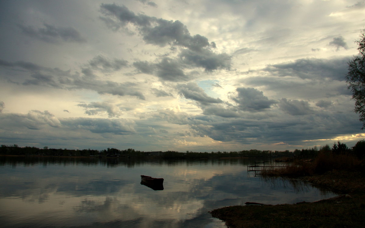
<path fill-rule="evenodd" d="M 357 158 L 320 154 L 312 162 L 297 162 L 262 175 L 300 178 L 330 189 L 339 197 L 297 204 L 229 206 L 212 210 L 211 215 L 230 228 L 364 227 L 365 175 Z"/>

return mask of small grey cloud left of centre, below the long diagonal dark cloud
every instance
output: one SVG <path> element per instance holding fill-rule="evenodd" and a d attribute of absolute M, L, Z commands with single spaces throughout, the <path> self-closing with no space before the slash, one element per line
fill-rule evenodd
<path fill-rule="evenodd" d="M 110 60 L 102 55 L 97 55 L 89 64 L 93 69 L 100 70 L 101 72 L 111 72 L 120 70 L 122 67 L 127 66 L 128 61 L 123 59 Z"/>

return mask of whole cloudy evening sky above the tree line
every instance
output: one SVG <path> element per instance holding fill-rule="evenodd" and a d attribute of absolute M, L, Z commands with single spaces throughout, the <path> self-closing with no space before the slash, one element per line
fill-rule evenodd
<path fill-rule="evenodd" d="M 2 0 L 0 144 L 354 146 L 364 15 L 358 0 Z"/>

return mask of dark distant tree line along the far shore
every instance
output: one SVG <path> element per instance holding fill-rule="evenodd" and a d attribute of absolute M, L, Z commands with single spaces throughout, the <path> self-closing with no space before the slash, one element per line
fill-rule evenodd
<path fill-rule="evenodd" d="M 166 151 L 161 152 L 159 157 L 161 158 L 268 158 L 268 157 L 289 157 L 289 158 L 315 158 L 320 152 L 327 152 L 333 154 L 347 154 L 354 155 L 358 158 L 364 158 L 365 140 L 360 140 L 352 148 L 348 148 L 346 144 L 337 142 L 333 144 L 333 147 L 325 145 L 320 148 L 313 147 L 310 149 L 294 150 L 294 151 L 271 151 L 271 150 L 242 150 L 242 151 L 218 151 L 218 152 L 178 152 L 178 151 Z M 116 148 L 107 148 L 106 150 L 68 150 L 68 149 L 53 149 L 48 147 L 18 147 L 14 144 L 11 146 L 1 145 L 0 154 L 4 155 L 45 155 L 45 156 L 96 156 L 96 157 L 139 157 L 147 156 L 149 152 L 138 151 L 134 149 L 118 150 Z"/>

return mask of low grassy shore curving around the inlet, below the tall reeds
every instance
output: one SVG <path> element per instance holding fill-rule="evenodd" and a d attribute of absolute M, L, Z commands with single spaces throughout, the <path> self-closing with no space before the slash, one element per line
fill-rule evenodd
<path fill-rule="evenodd" d="M 212 217 L 223 220 L 229 228 L 363 227 L 365 224 L 364 173 L 333 171 L 307 176 L 302 181 L 340 193 L 340 195 L 296 204 L 227 206 L 214 209 L 209 213 Z"/>

